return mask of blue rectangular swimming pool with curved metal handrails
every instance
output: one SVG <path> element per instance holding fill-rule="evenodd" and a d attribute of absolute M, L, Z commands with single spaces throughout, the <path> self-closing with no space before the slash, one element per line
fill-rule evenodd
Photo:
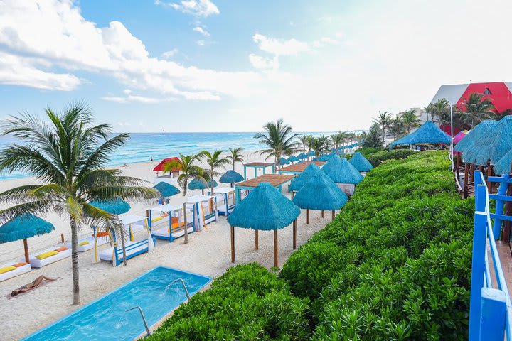
<path fill-rule="evenodd" d="M 140 305 L 151 327 L 186 301 L 179 282 L 164 292 L 177 278 L 183 278 L 191 295 L 211 281 L 207 276 L 159 266 L 23 340 L 133 340 L 145 332 L 144 323 L 138 310 L 126 310 Z"/>

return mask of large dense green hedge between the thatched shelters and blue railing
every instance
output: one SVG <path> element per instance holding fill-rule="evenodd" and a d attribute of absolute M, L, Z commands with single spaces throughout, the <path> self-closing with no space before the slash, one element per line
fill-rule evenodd
<path fill-rule="evenodd" d="M 472 213 L 446 152 L 388 161 L 279 276 L 311 299 L 315 340 L 462 340 Z"/>

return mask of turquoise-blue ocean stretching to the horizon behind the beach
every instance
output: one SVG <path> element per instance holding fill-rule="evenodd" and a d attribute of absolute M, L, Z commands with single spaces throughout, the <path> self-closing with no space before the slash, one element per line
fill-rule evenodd
<path fill-rule="evenodd" d="M 300 132 L 299 134 L 331 135 L 333 131 Z M 242 147 L 248 151 L 256 151 L 262 146 L 254 139 L 254 132 L 241 133 L 131 133 L 125 146 L 117 149 L 110 158 L 108 166 L 119 166 L 124 163 L 159 160 L 178 156 L 178 153 L 191 154 L 208 150 Z M 9 136 L 0 136 L 0 147 L 16 142 Z M 23 173 L 0 173 L 0 180 L 30 176 Z"/>

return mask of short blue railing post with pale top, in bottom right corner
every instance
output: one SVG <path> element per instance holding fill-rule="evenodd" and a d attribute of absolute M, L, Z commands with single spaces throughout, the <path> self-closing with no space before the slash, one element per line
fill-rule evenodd
<path fill-rule="evenodd" d="M 506 294 L 493 288 L 481 289 L 481 329 L 479 340 L 505 339 Z"/>

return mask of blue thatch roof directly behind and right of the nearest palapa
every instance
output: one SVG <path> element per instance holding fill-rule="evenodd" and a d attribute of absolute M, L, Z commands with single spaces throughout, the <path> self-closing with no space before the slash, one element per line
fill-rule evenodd
<path fill-rule="evenodd" d="M 340 210 L 348 197 L 329 176 L 319 171 L 297 192 L 292 201 L 302 209 Z"/>

